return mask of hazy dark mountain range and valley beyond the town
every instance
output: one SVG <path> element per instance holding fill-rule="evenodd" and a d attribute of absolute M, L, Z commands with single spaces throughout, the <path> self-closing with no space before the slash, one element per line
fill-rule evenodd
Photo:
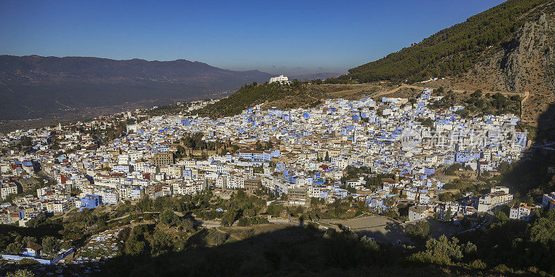
<path fill-rule="evenodd" d="M 0 55 L 0 120 L 64 116 L 85 107 L 194 100 L 273 75 L 203 62 Z"/>

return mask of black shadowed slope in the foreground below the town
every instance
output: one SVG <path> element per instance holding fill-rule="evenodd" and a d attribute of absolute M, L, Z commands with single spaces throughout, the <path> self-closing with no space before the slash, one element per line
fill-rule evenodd
<path fill-rule="evenodd" d="M 213 230 L 212 230 L 213 231 Z M 202 240 L 200 231 L 193 240 Z M 333 233 L 333 232 L 332 232 Z M 101 263 L 67 265 L 54 276 L 490 276 L 458 266 L 408 265 L 403 247 L 381 244 L 379 250 L 361 243 L 350 233 L 323 235 L 311 228 L 285 227 L 259 233 L 217 247 L 191 244 L 182 251 L 151 257 L 119 256 Z M 189 239 L 190 240 L 190 239 Z M 61 267 L 10 265 L 0 275 L 15 269 L 31 269 L 37 276 Z M 42 268 L 42 269 L 41 269 Z M 53 274 L 50 274 L 53 275 Z M 503 274 L 504 276 L 522 276 Z"/>

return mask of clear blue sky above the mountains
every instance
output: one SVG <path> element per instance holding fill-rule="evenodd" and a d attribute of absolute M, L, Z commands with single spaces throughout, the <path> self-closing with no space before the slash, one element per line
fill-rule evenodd
<path fill-rule="evenodd" d="M 502 2 L 2 0 L 0 54 L 343 73 Z"/>

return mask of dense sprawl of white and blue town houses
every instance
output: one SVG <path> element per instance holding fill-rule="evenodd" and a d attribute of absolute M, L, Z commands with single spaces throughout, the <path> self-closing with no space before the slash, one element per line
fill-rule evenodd
<path fill-rule="evenodd" d="M 145 195 L 192 195 L 210 186 L 222 196 L 238 188 L 255 192 L 264 187 L 276 195 L 286 194 L 290 205 L 307 205 L 311 197 L 334 202 L 352 195 L 376 211 L 387 208 L 391 198 L 393 203 L 416 204 L 411 220 L 429 216 L 430 211 L 466 215 L 510 202 L 512 195 L 503 188 L 468 203 L 437 201 L 445 184 L 437 168 L 463 163 L 477 172 L 495 172 L 502 161 L 519 159 L 527 143 L 526 134 L 515 129 L 518 117 L 466 119 L 455 114 L 463 107 L 428 108 L 440 98 L 426 89 L 416 101 L 336 99 L 290 110 L 257 105 L 216 120 L 143 116 L 140 123 L 127 125 L 126 136 L 104 144 L 94 141 L 87 130 L 107 129 L 141 115 L 128 112 L 115 120 L 78 123 L 75 128 L 19 130 L 0 137 L 0 148 L 28 137 L 33 151 L 3 150 L 1 197 L 25 191 L 22 180 L 36 177 L 39 171 L 56 184 L 38 189 L 36 196 L 15 197 L 11 204 L 0 206 L 0 221 L 24 225 L 42 213 L 137 201 Z M 203 105 L 206 102 L 195 102 L 189 110 Z M 180 139 L 198 133 L 206 143 L 230 147 L 205 159 L 177 159 L 180 149 L 195 151 Z M 53 139 L 60 149 L 52 148 Z M 348 166 L 364 166 L 372 172 L 370 177 L 395 177 L 383 178 L 377 188 L 367 186 L 364 177 L 342 183 Z M 71 196 L 72 191 L 79 194 Z"/>

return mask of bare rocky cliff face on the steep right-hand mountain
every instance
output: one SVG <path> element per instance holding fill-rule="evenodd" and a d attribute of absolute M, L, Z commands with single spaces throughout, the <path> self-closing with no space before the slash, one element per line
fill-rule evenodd
<path fill-rule="evenodd" d="M 527 15 L 512 39 L 488 48 L 461 80 L 475 88 L 522 97 L 528 91 L 521 117 L 535 124 L 555 102 L 555 5 Z"/>

